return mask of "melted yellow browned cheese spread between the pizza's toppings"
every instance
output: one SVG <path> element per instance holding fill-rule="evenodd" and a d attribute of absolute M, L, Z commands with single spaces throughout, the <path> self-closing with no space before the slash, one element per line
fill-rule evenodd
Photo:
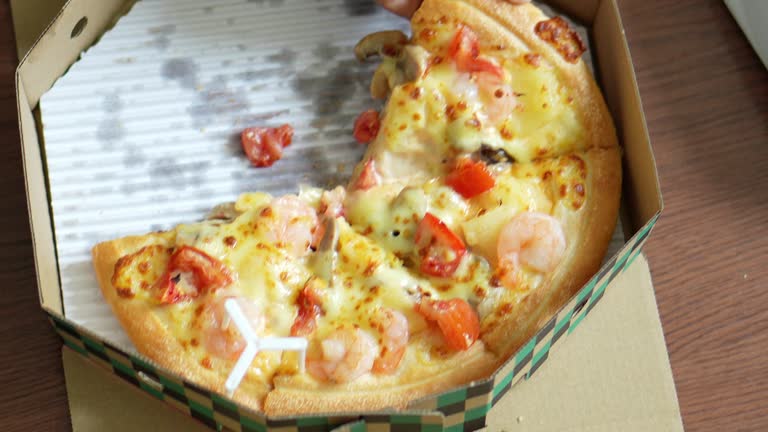
<path fill-rule="evenodd" d="M 414 34 L 433 56 L 445 57 L 444 47 L 455 28 L 454 24 L 422 24 Z M 569 205 L 578 208 L 583 203 L 583 161 L 537 158 L 578 148 L 585 132 L 567 90 L 544 59 L 535 65 L 526 61 L 524 55 L 530 53 L 524 46 L 507 47 L 504 52 L 483 47 L 482 51 L 495 56 L 504 68 L 504 82 L 499 85 L 515 93 L 514 109 L 495 124 L 486 112 L 488 100 L 481 89 L 487 83 L 459 73 L 450 61 L 436 62 L 416 81 L 401 85 L 397 84 L 403 74 L 397 64 L 384 61 L 380 71 L 388 76 L 393 90 L 368 156 L 376 161 L 382 182 L 350 193 L 345 202 L 349 223 L 337 220 L 337 249 L 317 253 L 327 253 L 327 259 L 295 258 L 286 252 L 285 244 L 275 243 L 274 225 L 263 211 L 272 197 L 263 193 L 241 196 L 234 205 L 240 215 L 231 223 L 205 222 L 175 230 L 176 246 L 198 248 L 237 274 L 236 281 L 219 292 L 157 306 L 171 333 L 201 364 L 226 373 L 234 360 L 212 359 L 200 340 L 209 325 L 203 313 L 206 302 L 227 295 L 247 297 L 263 305 L 265 334 L 287 336 L 297 315 L 299 292 L 314 274 L 326 270 L 332 277 L 320 292 L 323 314 L 317 321 L 318 338 L 346 325 L 376 335 L 372 319 L 383 307 L 402 312 L 411 333 L 417 334 L 427 328 L 414 308 L 425 294 L 468 300 L 488 326 L 501 305 L 515 303 L 536 288 L 543 276 L 528 270 L 521 273 L 519 289 L 493 286 L 498 234 L 519 212 L 557 216 Z M 444 177 L 451 160 L 477 151 L 482 144 L 505 150 L 514 163 L 494 167 L 495 186 L 465 199 L 444 184 Z M 321 194 L 319 189 L 303 188 L 301 198 L 317 208 Z M 469 248 L 451 277 L 430 277 L 418 270 L 414 236 L 427 212 L 458 233 Z M 142 259 L 151 262 L 153 269 L 162 269 L 168 253 Z M 135 271 L 131 267 L 127 273 Z M 152 270 L 123 282 L 147 285 L 158 274 Z M 146 289 L 135 291 L 146 295 Z M 433 339 L 427 335 L 418 343 Z M 429 347 L 417 353 L 421 362 L 428 363 L 430 356 Z M 279 355 L 262 353 L 249 374 L 269 382 L 279 367 Z"/>

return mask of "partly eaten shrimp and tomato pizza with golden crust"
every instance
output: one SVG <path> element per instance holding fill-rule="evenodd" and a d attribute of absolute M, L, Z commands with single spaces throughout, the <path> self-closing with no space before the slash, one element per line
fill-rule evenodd
<path fill-rule="evenodd" d="M 346 185 L 247 193 L 203 222 L 96 245 L 104 298 L 143 355 L 270 415 L 402 408 L 489 377 L 597 271 L 621 156 L 585 46 L 562 18 L 493 0 L 426 0 L 412 36 L 355 48 L 380 64 Z M 268 166 L 291 131 L 244 136 Z M 246 145 L 247 142 L 247 145 Z"/>

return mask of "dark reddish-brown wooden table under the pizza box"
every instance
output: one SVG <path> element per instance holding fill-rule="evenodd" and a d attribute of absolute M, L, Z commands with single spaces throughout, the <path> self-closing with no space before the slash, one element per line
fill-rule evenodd
<path fill-rule="evenodd" d="M 768 430 L 768 72 L 721 1 L 620 5 L 666 203 L 646 252 L 683 421 Z M 0 0 L 0 422 L 69 430 L 61 342 L 35 287 L 16 63 Z"/>

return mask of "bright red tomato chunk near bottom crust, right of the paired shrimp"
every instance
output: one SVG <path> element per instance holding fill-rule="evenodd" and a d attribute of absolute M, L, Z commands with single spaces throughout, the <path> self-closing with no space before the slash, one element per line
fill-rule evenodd
<path fill-rule="evenodd" d="M 480 336 L 480 319 L 465 300 L 422 300 L 416 310 L 440 327 L 446 344 L 455 351 L 468 350 Z"/>

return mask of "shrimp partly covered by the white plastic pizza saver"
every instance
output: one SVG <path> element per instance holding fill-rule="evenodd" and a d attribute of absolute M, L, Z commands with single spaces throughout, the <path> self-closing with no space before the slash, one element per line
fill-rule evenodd
<path fill-rule="evenodd" d="M 235 360 L 245 349 L 246 342 L 224 308 L 224 302 L 230 298 L 237 301 L 256 334 L 264 332 L 266 317 L 259 305 L 245 297 L 222 296 L 206 304 L 200 316 L 203 345 L 208 352 L 217 357 Z"/>

